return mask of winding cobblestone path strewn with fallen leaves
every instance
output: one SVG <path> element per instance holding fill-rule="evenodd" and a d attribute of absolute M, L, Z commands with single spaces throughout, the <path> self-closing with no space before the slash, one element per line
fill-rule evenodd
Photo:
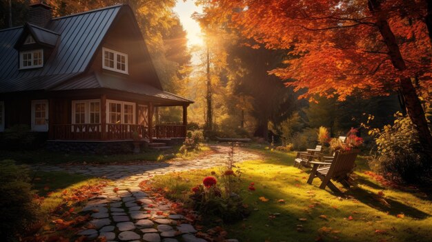
<path fill-rule="evenodd" d="M 197 238 L 193 225 L 184 216 L 170 211 L 171 205 L 156 201 L 139 188 L 139 182 L 157 174 L 224 165 L 230 150 L 210 146 L 215 152 L 199 159 L 133 165 L 40 165 L 42 171 L 61 171 L 106 177 L 113 184 L 90 199 L 84 210 L 92 211 L 92 229 L 79 232 L 89 238 L 105 236 L 106 241 L 205 242 Z M 236 148 L 235 162 L 260 159 L 259 154 Z M 114 188 L 118 188 L 115 192 Z M 235 242 L 228 239 L 227 242 Z"/>

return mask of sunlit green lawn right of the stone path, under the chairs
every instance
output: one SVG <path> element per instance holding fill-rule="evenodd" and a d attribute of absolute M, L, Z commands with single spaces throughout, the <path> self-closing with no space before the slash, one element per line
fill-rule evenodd
<path fill-rule="evenodd" d="M 254 149 L 257 151 L 257 149 Z M 253 210 L 244 221 L 224 225 L 239 241 L 432 241 L 432 203 L 427 194 L 411 189 L 395 190 L 364 174 L 366 160 L 357 159 L 356 185 L 344 194 L 320 190 L 319 179 L 308 185 L 307 170 L 293 168 L 295 152 L 257 151 L 265 160 L 246 161 L 243 188 L 245 203 Z M 219 168 L 155 177 L 154 185 L 175 191 L 185 199 L 197 183 Z M 269 201 L 263 202 L 264 196 Z M 283 199 L 284 203 L 278 202 Z M 275 216 L 272 216 L 276 214 Z"/>

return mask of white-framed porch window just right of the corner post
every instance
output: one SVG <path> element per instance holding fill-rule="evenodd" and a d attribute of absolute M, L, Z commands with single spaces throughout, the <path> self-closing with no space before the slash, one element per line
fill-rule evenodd
<path fill-rule="evenodd" d="M 107 100 L 107 123 L 135 124 L 135 103 Z"/>

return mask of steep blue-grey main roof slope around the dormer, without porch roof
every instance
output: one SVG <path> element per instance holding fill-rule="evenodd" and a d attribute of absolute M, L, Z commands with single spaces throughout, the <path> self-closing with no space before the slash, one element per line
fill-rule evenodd
<path fill-rule="evenodd" d="M 117 5 L 55 18 L 46 30 L 32 28 L 35 35 L 39 34 L 38 36 L 44 40 L 48 36 L 48 31 L 60 34 L 50 58 L 44 63 L 43 68 L 38 69 L 19 71 L 19 53 L 13 46 L 23 27 L 0 30 L 0 93 L 46 89 L 64 81 L 63 75 L 73 77 L 84 72 L 120 8 L 121 5 Z M 50 79 L 52 83 L 36 81 L 45 78 Z"/>

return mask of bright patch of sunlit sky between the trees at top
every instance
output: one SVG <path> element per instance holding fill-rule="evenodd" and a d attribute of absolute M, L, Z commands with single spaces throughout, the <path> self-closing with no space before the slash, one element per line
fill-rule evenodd
<path fill-rule="evenodd" d="M 203 42 L 202 38 L 200 37 L 201 28 L 199 27 L 197 21 L 191 17 L 194 12 L 202 12 L 202 7 L 195 6 L 195 1 L 193 0 L 177 0 L 177 5 L 174 8 L 174 12 L 177 12 L 184 30 L 188 32 L 188 46 L 202 46 Z"/>

